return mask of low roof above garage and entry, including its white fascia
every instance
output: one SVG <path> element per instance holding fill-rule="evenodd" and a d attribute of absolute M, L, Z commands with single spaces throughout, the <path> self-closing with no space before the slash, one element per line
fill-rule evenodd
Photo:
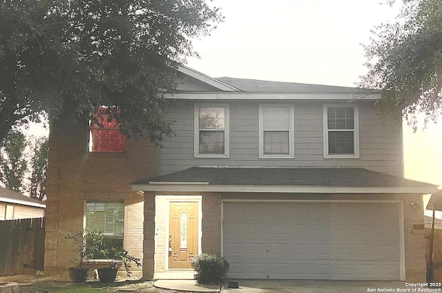
<path fill-rule="evenodd" d="M 132 183 L 133 190 L 181 190 L 319 193 L 431 193 L 436 185 L 364 168 L 192 167 Z M 244 186 L 254 187 L 243 190 Z M 238 188 L 241 187 L 241 188 Z M 255 190 L 256 188 L 256 190 Z M 183 190 L 184 191 L 184 190 Z"/>

